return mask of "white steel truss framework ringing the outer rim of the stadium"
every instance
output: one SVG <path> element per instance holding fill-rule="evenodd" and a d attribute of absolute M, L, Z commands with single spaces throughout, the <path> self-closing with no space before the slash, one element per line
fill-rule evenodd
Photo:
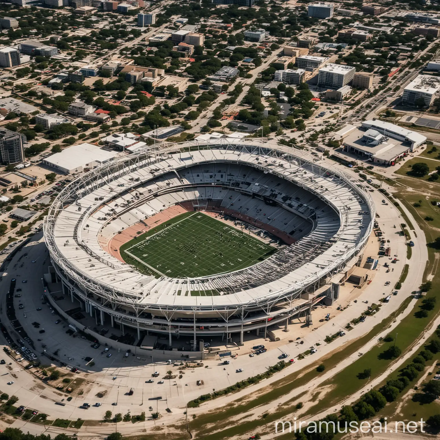
<path fill-rule="evenodd" d="M 48 216 L 45 218 L 44 221 L 44 236 L 51 254 L 52 262 L 54 263 L 54 266 L 58 274 L 61 276 L 63 282 L 70 289 L 70 293 L 74 293 L 85 303 L 91 304 L 96 309 L 102 310 L 103 312 L 114 316 L 116 319 L 121 320 L 121 322 L 124 322 L 131 326 L 137 326 L 138 328 L 140 324 L 142 326 L 146 326 L 146 328 L 147 326 L 160 326 L 160 330 L 165 330 L 165 328 L 162 327 L 167 325 L 171 326 L 173 323 L 176 322 L 174 318 L 176 314 L 182 315 L 182 313 L 184 313 L 188 316 L 193 315 L 194 319 L 192 323 L 185 324 L 179 321 L 179 325 L 183 327 L 193 326 L 194 332 L 197 317 L 202 317 L 204 312 L 210 312 L 209 316 L 218 316 L 218 318 L 224 321 L 223 326 L 227 327 L 227 330 L 225 331 L 233 332 L 240 331 L 240 328 L 235 328 L 235 330 L 233 330 L 231 328 L 231 325 L 228 324 L 232 316 L 234 316 L 235 318 L 234 327 L 241 326 L 242 331 L 243 325 L 246 325 L 246 317 L 251 312 L 261 312 L 262 315 L 268 316 L 274 306 L 285 306 L 285 308 L 280 311 L 279 315 L 274 316 L 273 320 L 271 321 L 271 323 L 276 323 L 286 319 L 286 317 L 288 318 L 293 315 L 297 315 L 302 310 L 311 308 L 313 303 L 319 301 L 319 299 L 322 299 L 319 297 L 315 297 L 312 301 L 309 301 L 308 304 L 301 305 L 301 307 L 293 304 L 293 302 L 300 298 L 301 294 L 305 291 L 315 291 L 316 288 L 319 288 L 319 286 L 325 284 L 333 275 L 345 268 L 346 264 L 353 257 L 358 255 L 362 251 L 372 231 L 373 221 L 370 222 L 369 227 L 366 231 L 364 231 L 362 240 L 360 240 L 355 247 L 350 249 L 349 253 L 345 253 L 344 255 L 335 259 L 334 263 L 331 264 L 331 266 L 322 268 L 322 270 L 316 272 L 313 277 L 309 277 L 308 280 L 299 282 L 295 284 L 295 286 L 292 286 L 288 289 L 280 290 L 278 292 L 268 293 L 265 296 L 257 298 L 253 301 L 248 301 L 244 304 L 210 304 L 198 306 L 185 306 L 181 304 L 144 304 L 139 301 L 139 294 L 133 293 L 128 290 L 115 290 L 112 286 L 100 282 L 99 279 L 90 278 L 88 274 L 79 270 L 63 256 L 61 250 L 55 244 L 54 227 L 57 217 L 67 206 L 76 203 L 85 195 L 90 194 L 92 191 L 95 191 L 99 187 L 102 187 L 113 180 L 116 180 L 136 170 L 142 169 L 144 167 L 149 167 L 150 165 L 154 165 L 155 163 L 159 163 L 169 158 L 170 153 L 182 154 L 188 152 L 191 153 L 191 151 L 202 151 L 208 149 L 218 150 L 220 154 L 222 154 L 222 152 L 224 151 L 227 151 L 236 153 L 237 155 L 241 153 L 248 153 L 260 157 L 264 156 L 274 159 L 280 159 L 290 164 L 297 165 L 304 170 L 311 171 L 316 176 L 325 177 L 328 180 L 337 181 L 337 183 L 347 188 L 347 191 L 352 193 L 354 197 L 361 199 L 368 206 L 371 219 L 374 218 L 375 211 L 373 201 L 370 197 L 370 194 L 362 190 L 362 185 L 359 182 L 353 182 L 351 180 L 352 178 L 345 175 L 345 173 L 343 172 L 335 172 L 334 170 L 315 164 L 313 162 L 312 156 L 309 156 L 307 153 L 295 151 L 295 153 L 293 154 L 290 151 L 283 151 L 281 146 L 277 146 L 275 148 L 264 147 L 260 145 L 260 143 L 253 143 L 249 139 L 246 139 L 245 141 L 229 141 L 227 139 L 220 139 L 208 144 L 206 142 L 204 144 L 199 144 L 197 142 L 186 142 L 182 144 L 161 143 L 149 148 L 147 151 L 144 150 L 141 153 L 131 154 L 124 158 L 120 158 L 116 161 L 110 162 L 78 177 L 59 193 L 54 203 L 51 205 Z M 221 159 L 211 162 L 219 161 L 221 161 Z M 227 162 L 231 163 L 230 160 L 227 160 Z M 238 157 L 236 163 L 240 163 L 240 159 Z M 270 172 L 276 176 L 279 176 L 283 180 L 291 180 L 296 185 L 303 187 L 309 192 L 314 193 L 317 197 L 319 197 L 327 204 L 331 205 L 339 213 L 341 229 L 344 229 L 346 218 L 343 213 L 339 209 L 336 209 L 336 207 L 332 205 L 330 201 L 326 200 L 326 198 L 319 192 L 312 190 L 311 188 L 307 187 L 307 185 L 297 182 L 294 179 L 289 179 L 289 177 L 283 175 L 280 172 L 276 172 L 268 165 L 255 165 L 248 162 L 246 162 L 246 165 L 251 165 L 259 168 L 263 172 Z M 185 165 L 182 165 L 181 168 L 185 168 Z M 157 176 L 158 175 L 154 177 Z M 125 186 L 123 188 L 123 191 L 134 189 L 142 183 L 142 181 L 132 182 L 132 186 Z M 112 194 L 112 197 L 116 196 L 117 194 Z M 143 200 L 145 201 L 145 199 Z M 108 202 L 108 200 L 105 202 Z M 133 206 L 130 206 L 129 209 L 133 209 Z M 84 250 L 86 250 L 85 248 L 87 248 L 87 246 L 81 244 L 81 242 L 77 239 L 77 232 L 78 227 L 90 214 L 90 208 L 86 209 L 75 226 L 74 239 L 77 240 L 77 245 L 81 246 Z M 114 267 L 112 266 L 113 263 L 102 259 L 98 255 L 95 255 L 91 249 L 87 248 L 87 252 L 89 253 L 89 255 L 92 255 L 95 258 L 99 258 L 99 260 L 103 263 Z M 189 282 L 189 280 L 183 280 L 183 282 Z M 154 289 L 154 284 L 150 286 L 150 289 Z M 95 295 L 100 298 L 101 302 L 95 301 Z M 122 308 L 125 308 L 125 310 L 122 310 Z M 130 312 L 126 312 L 127 310 L 129 310 Z M 154 314 L 165 317 L 166 322 L 164 322 L 164 319 L 154 319 Z M 236 319 L 237 317 L 239 317 L 238 323 Z M 255 322 L 255 320 L 253 321 Z M 212 325 L 220 326 L 218 322 L 213 323 Z M 150 329 L 152 330 L 151 327 Z M 246 327 L 246 330 L 251 329 L 251 327 Z M 160 330 L 158 329 L 158 331 Z M 170 331 L 170 328 L 167 331 Z M 212 332 L 209 333 L 212 334 Z"/>

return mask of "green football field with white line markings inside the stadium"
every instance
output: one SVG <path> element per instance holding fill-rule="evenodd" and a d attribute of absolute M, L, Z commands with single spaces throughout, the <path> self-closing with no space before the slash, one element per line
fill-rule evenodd
<path fill-rule="evenodd" d="M 276 249 L 202 212 L 184 213 L 121 246 L 143 272 L 194 278 L 246 268 Z"/>

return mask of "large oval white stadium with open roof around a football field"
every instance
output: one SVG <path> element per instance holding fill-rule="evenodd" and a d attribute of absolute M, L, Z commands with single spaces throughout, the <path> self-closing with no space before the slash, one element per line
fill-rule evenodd
<path fill-rule="evenodd" d="M 96 323 L 138 341 L 191 339 L 196 350 L 213 336 L 242 343 L 311 322 L 312 308 L 337 299 L 375 216 L 362 183 L 322 163 L 255 139 L 160 143 L 116 159 L 51 205 L 53 275 Z"/>

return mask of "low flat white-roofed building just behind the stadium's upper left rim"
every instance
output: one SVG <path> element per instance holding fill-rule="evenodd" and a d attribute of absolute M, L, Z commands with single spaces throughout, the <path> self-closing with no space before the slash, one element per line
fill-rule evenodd
<path fill-rule="evenodd" d="M 64 174 L 83 172 L 113 160 L 117 151 L 103 150 L 91 143 L 81 143 L 43 159 L 43 164 Z"/>

